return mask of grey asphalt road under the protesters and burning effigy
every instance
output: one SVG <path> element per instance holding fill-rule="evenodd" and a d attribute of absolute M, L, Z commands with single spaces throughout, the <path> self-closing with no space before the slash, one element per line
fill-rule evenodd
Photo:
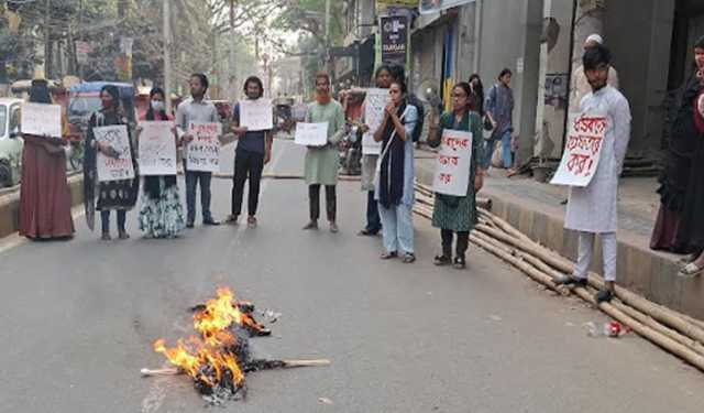
<path fill-rule="evenodd" d="M 274 157 L 276 172 L 302 169 L 290 142 Z M 230 188 L 213 183 L 219 218 Z M 587 337 L 584 323 L 606 322 L 596 311 L 473 247 L 466 271 L 435 268 L 439 235 L 420 218 L 418 262 L 381 261 L 381 239 L 355 236 L 358 183 L 340 184 L 340 233 L 304 232 L 306 194 L 300 181 L 266 181 L 254 230 L 146 240 L 133 211 L 128 241 L 98 241 L 82 217 L 73 241 L 6 241 L 0 412 L 208 411 L 187 378 L 140 369 L 164 365 L 153 340 L 190 334 L 187 308 L 217 285 L 283 313 L 273 337 L 253 340 L 258 356 L 333 361 L 253 373 L 248 400 L 223 411 L 702 411 L 704 374 L 634 335 Z"/>

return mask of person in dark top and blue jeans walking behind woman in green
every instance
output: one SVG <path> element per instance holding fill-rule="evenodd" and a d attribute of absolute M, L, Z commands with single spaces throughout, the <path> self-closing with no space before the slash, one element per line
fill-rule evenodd
<path fill-rule="evenodd" d="M 488 90 L 484 110 L 496 124 L 494 126 L 494 134 L 486 145 L 484 162 L 482 162 L 482 167 L 488 170 L 496 141 L 501 141 L 504 169 L 509 170 L 509 174 L 513 172 L 512 166 L 514 164 L 512 156 L 512 133 L 514 132 L 514 91 L 510 89 L 512 76 L 510 69 L 503 69 L 498 74 L 498 83 Z"/>

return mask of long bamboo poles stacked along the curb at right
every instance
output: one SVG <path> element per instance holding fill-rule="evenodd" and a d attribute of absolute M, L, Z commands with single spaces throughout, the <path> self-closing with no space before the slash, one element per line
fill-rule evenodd
<path fill-rule="evenodd" d="M 470 241 L 521 270 L 532 280 L 562 295 L 574 293 L 594 306 L 594 293 L 604 286 L 604 280 L 590 273 L 588 286 L 566 289 L 558 286 L 556 279 L 571 274 L 574 263 L 547 249 L 490 213 L 477 199 L 480 224 L 470 235 Z M 428 186 L 416 184 L 414 211 L 432 218 L 433 194 Z M 597 306 L 609 317 L 620 322 L 641 337 L 680 357 L 704 371 L 704 322 L 652 303 L 624 287 L 616 286 L 616 298 Z"/>

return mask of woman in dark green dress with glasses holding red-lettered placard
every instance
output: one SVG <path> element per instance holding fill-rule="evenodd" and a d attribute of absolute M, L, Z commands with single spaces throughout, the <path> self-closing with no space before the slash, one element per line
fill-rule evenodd
<path fill-rule="evenodd" d="M 468 83 L 460 83 L 452 89 L 452 111 L 440 117 L 437 133 L 431 133 L 428 143 L 437 148 L 442 142 L 444 129 L 468 131 L 472 133 L 472 160 L 470 163 L 470 185 L 466 195 L 452 196 L 435 195 L 436 204 L 432 211 L 432 226 L 440 228 L 442 238 L 442 254 L 435 258 L 436 265 L 453 264 L 455 269 L 466 268 L 465 252 L 470 242 L 470 231 L 477 222 L 476 192 L 484 184 L 484 171 L 479 165 L 482 159 L 483 137 L 482 118 L 479 112 L 470 110 L 472 88 Z M 481 100 L 479 100 L 481 101 Z M 435 131 L 433 131 L 435 132 Z M 454 261 L 452 260 L 452 239 L 457 233 Z"/>

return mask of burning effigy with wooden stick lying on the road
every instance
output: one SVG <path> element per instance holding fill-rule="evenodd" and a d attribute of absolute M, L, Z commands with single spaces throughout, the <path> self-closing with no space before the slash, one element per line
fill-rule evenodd
<path fill-rule="evenodd" d="M 194 380 L 196 390 L 212 402 L 246 398 L 248 372 L 330 363 L 327 359 L 253 359 L 249 339 L 268 336 L 271 330 L 254 318 L 254 305 L 238 301 L 228 287 L 219 287 L 217 297 L 191 311 L 197 335 L 178 339 L 174 347 L 163 338 L 154 341 L 154 351 L 164 355 L 174 367 L 142 369 L 143 376 L 186 374 Z"/>

